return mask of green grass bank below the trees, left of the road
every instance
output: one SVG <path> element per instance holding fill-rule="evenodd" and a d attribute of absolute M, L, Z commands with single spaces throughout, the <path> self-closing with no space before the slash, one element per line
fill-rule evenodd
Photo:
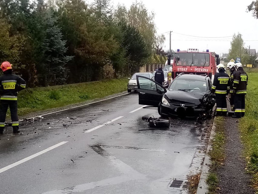
<path fill-rule="evenodd" d="M 127 82 L 124 78 L 48 90 L 26 89 L 18 94 L 18 115 L 23 116 L 123 92 L 127 90 Z"/>

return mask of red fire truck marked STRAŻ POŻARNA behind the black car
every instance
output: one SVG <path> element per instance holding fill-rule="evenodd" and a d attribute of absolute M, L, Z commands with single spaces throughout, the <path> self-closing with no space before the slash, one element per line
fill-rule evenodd
<path fill-rule="evenodd" d="M 217 70 L 216 67 L 220 64 L 219 55 L 209 52 L 208 49 L 206 52 L 199 52 L 198 49 L 187 49 L 187 51 L 177 49 L 176 53 L 168 56 L 168 63 L 170 62 L 170 57 L 174 59 L 171 64 L 173 66 L 172 79 L 177 77 L 179 73 L 193 73 L 197 75 L 208 75 L 213 80 Z"/>

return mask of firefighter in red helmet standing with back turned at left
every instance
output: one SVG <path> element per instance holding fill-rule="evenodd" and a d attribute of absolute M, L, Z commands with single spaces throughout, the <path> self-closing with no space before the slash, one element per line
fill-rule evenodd
<path fill-rule="evenodd" d="M 19 120 L 17 114 L 17 94 L 25 89 L 26 82 L 12 73 L 12 64 L 5 61 L 1 64 L 3 75 L 0 76 L 0 134 L 5 128 L 5 117 L 8 107 L 11 112 L 13 133 L 19 133 Z"/>

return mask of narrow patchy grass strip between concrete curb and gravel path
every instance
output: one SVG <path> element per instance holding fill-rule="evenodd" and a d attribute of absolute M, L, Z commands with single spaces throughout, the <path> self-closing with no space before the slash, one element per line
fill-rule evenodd
<path fill-rule="evenodd" d="M 207 151 L 207 155 L 211 158 L 210 172 L 207 176 L 206 182 L 208 185 L 208 194 L 216 194 L 218 188 L 218 179 L 216 169 L 223 165 L 225 157 L 225 118 L 216 117 L 214 124 L 216 126 L 215 135 L 212 140 L 212 148 Z"/>

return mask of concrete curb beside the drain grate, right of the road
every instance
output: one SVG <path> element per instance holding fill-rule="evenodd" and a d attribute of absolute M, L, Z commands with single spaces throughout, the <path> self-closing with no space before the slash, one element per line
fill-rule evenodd
<path fill-rule="evenodd" d="M 211 132 L 210 132 L 210 139 L 209 139 L 208 146 L 206 149 L 206 154 L 205 154 L 204 161 L 203 161 L 203 168 L 201 171 L 200 180 L 199 180 L 196 194 L 207 194 L 208 193 L 208 185 L 206 183 L 206 179 L 207 179 L 207 175 L 209 174 L 209 170 L 210 170 L 210 157 L 207 155 L 207 152 L 212 146 L 211 140 L 215 136 L 215 129 L 216 129 L 216 127 L 215 127 L 215 124 L 213 121 L 213 125 L 212 125 Z"/>

